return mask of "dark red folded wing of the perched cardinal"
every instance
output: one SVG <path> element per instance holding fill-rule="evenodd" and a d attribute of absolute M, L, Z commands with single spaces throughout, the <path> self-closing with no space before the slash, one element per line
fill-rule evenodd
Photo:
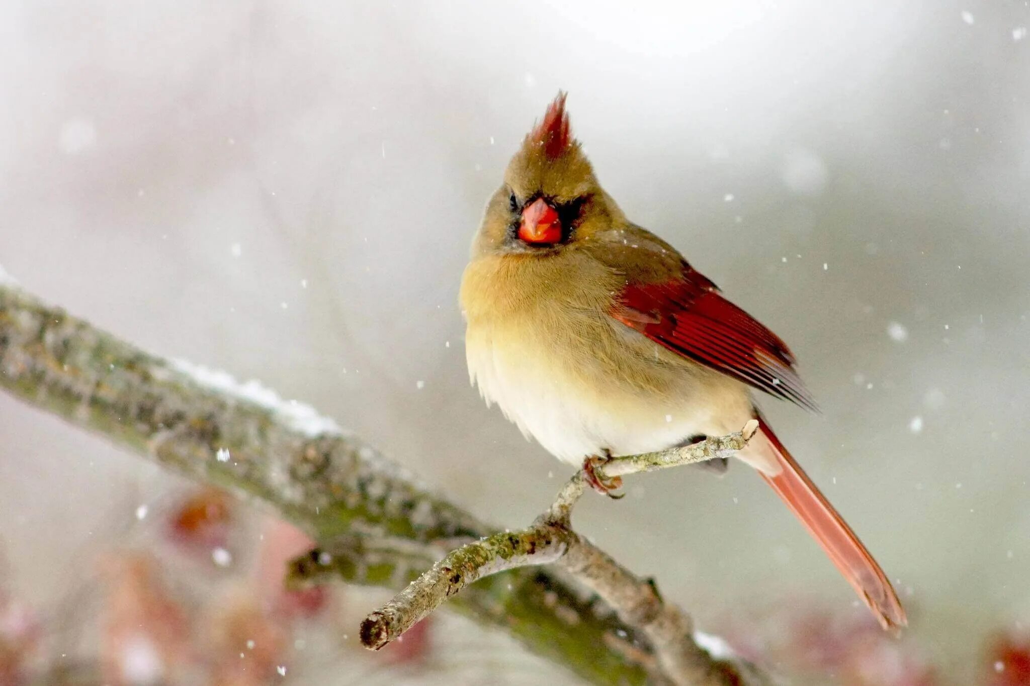
<path fill-rule="evenodd" d="M 818 411 L 787 345 L 689 266 L 676 281 L 627 285 L 612 316 L 673 352 Z"/>

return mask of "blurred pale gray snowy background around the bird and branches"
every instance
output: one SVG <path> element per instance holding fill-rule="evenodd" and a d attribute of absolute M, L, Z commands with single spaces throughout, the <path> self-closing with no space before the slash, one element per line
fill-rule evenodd
<path fill-rule="evenodd" d="M 1030 620 L 1028 25 L 978 0 L 7 0 L 0 264 L 520 525 L 569 468 L 469 387 L 457 287 L 568 89 L 629 217 L 792 346 L 823 414 L 763 407 L 962 674 Z M 578 526 L 701 627 L 810 595 L 851 611 L 731 467 L 632 478 Z M 45 606 L 168 478 L 0 396 L 8 585 Z"/>

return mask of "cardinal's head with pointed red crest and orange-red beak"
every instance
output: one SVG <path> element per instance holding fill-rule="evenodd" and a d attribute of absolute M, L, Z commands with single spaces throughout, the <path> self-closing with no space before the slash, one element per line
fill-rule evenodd
<path fill-rule="evenodd" d="M 475 254 L 554 255 L 624 221 L 573 138 L 565 94 L 551 102 L 486 206 Z"/>

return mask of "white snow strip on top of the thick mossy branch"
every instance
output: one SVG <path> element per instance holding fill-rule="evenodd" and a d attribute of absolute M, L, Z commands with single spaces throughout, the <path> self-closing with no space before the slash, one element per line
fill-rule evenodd
<path fill-rule="evenodd" d="M 343 435 L 336 422 L 319 414 L 315 408 L 297 400 L 283 400 L 279 394 L 256 380 L 245 384 L 220 369 L 209 369 L 187 360 L 170 360 L 172 368 L 190 376 L 194 382 L 214 391 L 220 391 L 245 402 L 252 402 L 278 416 L 294 431 L 315 438 L 322 434 Z"/>

